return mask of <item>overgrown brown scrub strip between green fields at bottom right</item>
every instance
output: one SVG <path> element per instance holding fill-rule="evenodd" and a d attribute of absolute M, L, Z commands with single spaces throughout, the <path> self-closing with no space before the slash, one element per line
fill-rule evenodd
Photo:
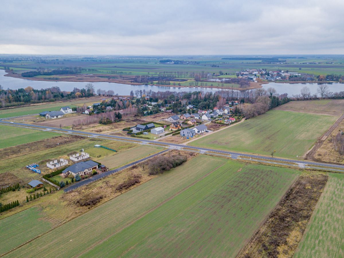
<path fill-rule="evenodd" d="M 238 257 L 292 257 L 326 185 L 326 174 L 303 174 Z"/>

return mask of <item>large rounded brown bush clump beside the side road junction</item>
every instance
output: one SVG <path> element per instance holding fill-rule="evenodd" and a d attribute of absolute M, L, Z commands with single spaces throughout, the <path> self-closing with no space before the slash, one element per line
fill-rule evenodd
<path fill-rule="evenodd" d="M 169 171 L 170 169 L 183 164 L 186 160 L 187 160 L 186 157 L 183 155 L 159 157 L 155 160 L 152 160 L 148 164 L 149 174 L 150 175 L 162 174 L 165 171 Z"/>

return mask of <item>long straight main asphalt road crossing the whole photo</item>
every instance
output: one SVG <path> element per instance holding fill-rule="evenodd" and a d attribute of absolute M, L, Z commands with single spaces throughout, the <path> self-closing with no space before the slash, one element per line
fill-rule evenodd
<path fill-rule="evenodd" d="M 292 160 L 292 159 L 283 159 L 283 158 L 272 158 L 272 157 L 266 157 L 261 155 L 255 155 L 255 154 L 248 154 L 248 153 L 239 153 L 239 152 L 232 152 L 232 151 L 223 151 L 223 150 L 216 150 L 216 149 L 209 149 L 209 148 L 202 148 L 202 147 L 194 147 L 189 145 L 182 145 L 182 144 L 176 144 L 176 143 L 167 143 L 167 142 L 160 142 L 160 141 L 153 141 L 153 140 L 147 140 L 147 139 L 140 139 L 138 137 L 124 137 L 124 136 L 113 136 L 113 135 L 106 135 L 102 133 L 92 133 L 92 132 L 85 132 L 85 131 L 75 131 L 75 130 L 69 130 L 69 129 L 60 129 L 55 127 L 48 127 L 48 126 L 39 126 L 39 125 L 29 125 L 25 123 L 10 123 L 8 121 L 0 121 L 0 124 L 3 125 L 14 125 L 14 126 L 23 126 L 23 127 L 37 127 L 42 129 L 51 129 L 51 130 L 57 130 L 62 132 L 69 132 L 69 133 L 82 133 L 83 135 L 88 136 L 101 136 L 101 137 L 107 137 L 107 138 L 114 138 L 114 139 L 123 139 L 123 140 L 131 140 L 131 141 L 140 141 L 140 142 L 147 142 L 152 144 L 158 144 L 158 145 L 166 145 L 166 146 L 175 146 L 180 148 L 189 148 L 199 151 L 213 151 L 217 153 L 223 153 L 228 155 L 234 155 L 234 156 L 241 156 L 241 157 L 248 157 L 248 158 L 255 158 L 255 159 L 266 159 L 266 160 L 275 160 L 275 161 L 284 161 L 284 162 L 294 162 L 294 163 L 301 163 L 301 164 L 309 164 L 309 165 L 317 165 L 317 166 L 324 166 L 329 168 L 341 168 L 344 169 L 344 165 L 337 165 L 337 164 L 330 164 L 330 163 L 321 163 L 321 162 L 312 162 L 312 161 L 303 161 L 303 160 Z"/>

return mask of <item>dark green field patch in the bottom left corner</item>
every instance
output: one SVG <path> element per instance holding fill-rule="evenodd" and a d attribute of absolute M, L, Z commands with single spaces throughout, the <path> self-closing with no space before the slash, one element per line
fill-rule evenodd
<path fill-rule="evenodd" d="M 0 254 L 25 243 L 52 228 L 37 208 L 29 208 L 0 220 Z"/>

